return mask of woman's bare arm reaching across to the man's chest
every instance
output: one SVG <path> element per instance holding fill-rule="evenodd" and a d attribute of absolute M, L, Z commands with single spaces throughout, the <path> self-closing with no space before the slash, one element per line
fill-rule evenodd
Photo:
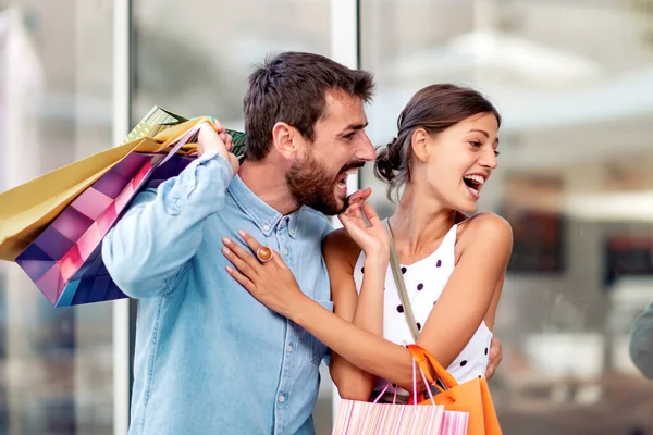
<path fill-rule="evenodd" d="M 512 250 L 510 226 L 498 216 L 480 215 L 469 222 L 466 233 L 470 243 L 418 340 L 444 366 L 459 355 L 488 313 Z M 254 250 L 260 246 L 251 236 L 244 238 Z M 279 254 L 261 266 L 236 244 L 226 246 L 227 259 L 241 271 L 230 268 L 229 273 L 261 303 L 309 331 L 355 366 L 412 390 L 408 349 L 334 315 L 305 296 Z"/>

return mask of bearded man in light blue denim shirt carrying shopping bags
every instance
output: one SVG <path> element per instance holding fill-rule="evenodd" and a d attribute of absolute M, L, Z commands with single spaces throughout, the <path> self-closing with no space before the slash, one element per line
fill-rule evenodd
<path fill-rule="evenodd" d="M 239 171 L 222 128 L 202 129 L 199 158 L 107 235 L 111 277 L 139 299 L 130 434 L 315 433 L 326 348 L 243 291 L 220 249 L 247 231 L 332 309 L 321 213 L 345 209 L 347 175 L 374 159 L 372 88 L 369 73 L 321 55 L 269 60 L 249 77 Z"/>

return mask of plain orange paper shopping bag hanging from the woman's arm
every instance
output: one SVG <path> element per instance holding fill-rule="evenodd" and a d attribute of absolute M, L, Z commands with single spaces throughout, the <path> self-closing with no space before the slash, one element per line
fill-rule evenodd
<path fill-rule="evenodd" d="M 407 347 L 427 377 L 427 382 L 439 389 L 433 396 L 435 403 L 443 405 L 445 410 L 469 412 L 468 435 L 502 434 L 488 381 L 484 377 L 458 384 L 427 350 L 418 345 Z M 442 385 L 435 383 L 438 380 Z M 422 397 L 418 401 L 419 405 L 433 405 L 431 398 Z"/>

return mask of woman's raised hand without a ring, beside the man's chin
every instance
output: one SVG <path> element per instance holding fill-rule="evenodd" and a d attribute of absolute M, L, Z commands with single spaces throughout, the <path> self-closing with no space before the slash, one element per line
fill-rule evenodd
<path fill-rule="evenodd" d="M 387 263 L 390 257 L 390 236 L 374 209 L 366 202 L 372 190 L 368 187 L 349 197 L 349 207 L 337 217 L 349 237 L 364 250 L 366 259 L 380 259 Z M 365 217 L 370 225 L 366 223 Z"/>

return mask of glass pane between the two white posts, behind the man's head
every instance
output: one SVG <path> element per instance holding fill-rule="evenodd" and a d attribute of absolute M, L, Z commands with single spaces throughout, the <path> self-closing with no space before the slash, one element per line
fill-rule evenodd
<path fill-rule="evenodd" d="M 247 76 L 268 53 L 329 55 L 331 0 L 135 0 L 132 122 L 152 105 L 186 116 L 213 115 L 243 128 Z M 136 303 L 132 303 L 136 310 Z M 132 331 L 134 331 L 135 318 Z M 329 373 L 322 365 L 322 378 Z M 331 386 L 313 412 L 331 433 Z"/>

